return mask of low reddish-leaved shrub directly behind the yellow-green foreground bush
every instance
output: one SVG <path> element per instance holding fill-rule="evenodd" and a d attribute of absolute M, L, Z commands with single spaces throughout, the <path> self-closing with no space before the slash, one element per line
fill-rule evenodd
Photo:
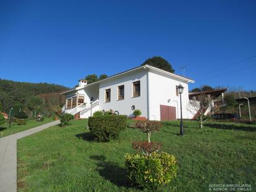
<path fill-rule="evenodd" d="M 147 142 L 145 141 L 135 141 L 132 142 L 132 148 L 137 150 L 139 153 L 150 154 L 157 152 L 161 148 L 160 142 Z"/>

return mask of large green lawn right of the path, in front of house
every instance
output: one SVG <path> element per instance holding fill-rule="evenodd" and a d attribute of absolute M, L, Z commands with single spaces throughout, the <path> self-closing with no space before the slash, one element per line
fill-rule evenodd
<path fill-rule="evenodd" d="M 86 120 L 54 126 L 18 140 L 19 191 L 141 191 L 130 185 L 125 153 L 131 142 L 146 140 L 127 128 L 118 140 L 93 141 Z M 178 176 L 161 191 L 209 191 L 209 184 L 243 183 L 255 190 L 256 125 L 210 122 L 198 129 L 185 121 L 186 135 L 177 136 L 179 122 L 163 122 L 152 140 L 175 155 Z"/>

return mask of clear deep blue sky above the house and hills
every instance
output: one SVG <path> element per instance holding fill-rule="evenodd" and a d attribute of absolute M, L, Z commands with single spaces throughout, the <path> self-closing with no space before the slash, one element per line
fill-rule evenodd
<path fill-rule="evenodd" d="M 2 79 L 72 87 L 161 56 L 191 89 L 256 90 L 254 55 L 256 1 L 0 0 Z"/>

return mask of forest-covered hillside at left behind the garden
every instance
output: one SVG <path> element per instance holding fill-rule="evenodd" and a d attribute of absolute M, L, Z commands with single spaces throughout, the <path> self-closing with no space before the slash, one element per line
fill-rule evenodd
<path fill-rule="evenodd" d="M 40 94 L 43 93 L 60 93 L 69 88 L 62 85 L 49 83 L 25 83 L 11 80 L 0 79 L 0 102 L 2 111 L 8 112 L 11 107 L 19 108 L 18 110 L 33 109 L 35 102 L 45 104 Z M 57 104 L 62 104 L 57 102 Z M 42 108 L 42 107 L 41 107 Z"/>

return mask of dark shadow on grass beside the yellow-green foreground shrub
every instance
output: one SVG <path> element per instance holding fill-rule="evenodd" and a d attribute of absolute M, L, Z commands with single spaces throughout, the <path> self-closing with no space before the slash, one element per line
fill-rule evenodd
<path fill-rule="evenodd" d="M 114 162 L 106 162 L 104 155 L 91 155 L 89 158 L 97 160 L 97 171 L 104 179 L 109 180 L 116 186 L 132 188 L 129 179 L 126 176 L 126 169 Z"/>

